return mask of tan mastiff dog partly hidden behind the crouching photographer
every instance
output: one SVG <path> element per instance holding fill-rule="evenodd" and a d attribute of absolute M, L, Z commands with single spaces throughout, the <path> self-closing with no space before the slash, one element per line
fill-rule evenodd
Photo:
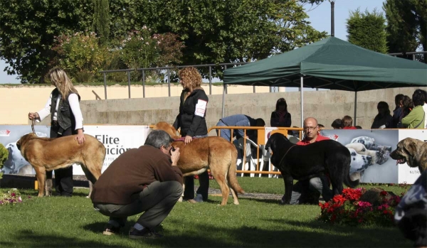
<path fill-rule="evenodd" d="M 179 139 L 174 126 L 167 122 L 159 122 L 153 129 L 164 130 L 173 139 Z M 230 190 L 233 195 L 233 203 L 238 205 L 238 193 L 244 194 L 245 191 L 236 178 L 237 150 L 230 141 L 218 136 L 211 136 L 193 139 L 189 144 L 174 141 L 172 146 L 179 147 L 181 156 L 179 156 L 178 167 L 184 176 L 199 175 L 209 168 L 221 188 L 221 205 L 227 204 Z"/>

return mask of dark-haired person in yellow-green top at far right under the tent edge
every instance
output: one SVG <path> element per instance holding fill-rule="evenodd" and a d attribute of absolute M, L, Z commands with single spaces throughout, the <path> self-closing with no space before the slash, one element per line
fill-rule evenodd
<path fill-rule="evenodd" d="M 408 129 L 424 129 L 424 119 L 426 113 L 424 113 L 423 104 L 426 101 L 426 96 L 423 92 L 415 91 L 412 95 L 413 109 L 409 112 L 406 117 L 401 120 L 404 127 Z"/>

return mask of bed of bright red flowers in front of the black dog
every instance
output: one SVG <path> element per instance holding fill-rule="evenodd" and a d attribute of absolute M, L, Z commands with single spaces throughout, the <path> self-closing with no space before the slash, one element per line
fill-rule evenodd
<path fill-rule="evenodd" d="M 380 201 L 373 204 L 360 200 L 364 193 L 367 193 L 364 188 L 346 188 L 342 195 L 319 203 L 322 208 L 319 220 L 339 225 L 394 225 L 394 208 L 401 198 L 382 190 Z"/>

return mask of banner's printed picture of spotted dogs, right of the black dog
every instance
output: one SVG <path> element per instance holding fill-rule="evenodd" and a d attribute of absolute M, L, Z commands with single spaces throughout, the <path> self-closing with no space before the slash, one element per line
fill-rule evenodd
<path fill-rule="evenodd" d="M 321 134 L 349 149 L 352 155 L 350 176 L 361 183 L 398 183 L 399 170 L 390 153 L 396 149 L 399 130 L 322 130 Z"/>

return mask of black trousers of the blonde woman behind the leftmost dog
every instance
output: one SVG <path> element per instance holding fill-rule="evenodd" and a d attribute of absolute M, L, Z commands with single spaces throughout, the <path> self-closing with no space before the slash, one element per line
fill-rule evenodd
<path fill-rule="evenodd" d="M 51 138 L 75 134 L 72 128 L 68 128 L 64 130 L 62 134 L 58 134 L 59 129 L 60 126 L 58 124 L 52 123 Z M 46 171 L 46 179 L 52 179 L 52 171 Z M 73 166 L 55 170 L 55 190 L 56 194 L 59 196 L 73 195 Z"/>

